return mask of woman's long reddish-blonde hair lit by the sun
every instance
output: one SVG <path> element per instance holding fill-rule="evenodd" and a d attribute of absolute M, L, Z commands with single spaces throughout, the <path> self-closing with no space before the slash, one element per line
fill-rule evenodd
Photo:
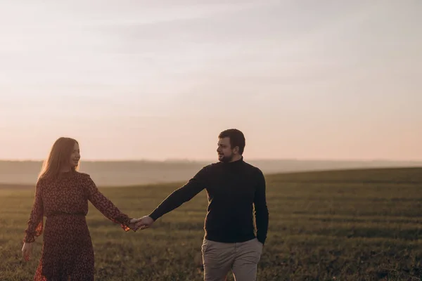
<path fill-rule="evenodd" d="M 58 138 L 51 147 L 49 157 L 44 161 L 38 180 L 41 178 L 50 179 L 55 178 L 60 174 L 63 168 L 69 165 L 70 156 L 72 155 L 75 143 L 78 143 L 73 138 Z M 79 143 L 78 143 L 79 144 Z M 77 167 L 72 167 L 73 171 L 77 171 Z"/>

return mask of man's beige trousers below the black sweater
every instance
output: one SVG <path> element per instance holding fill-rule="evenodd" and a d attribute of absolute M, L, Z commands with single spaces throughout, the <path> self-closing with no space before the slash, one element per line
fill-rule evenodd
<path fill-rule="evenodd" d="M 262 243 L 256 238 L 241 243 L 204 239 L 202 246 L 204 280 L 224 281 L 231 270 L 236 281 L 255 281 Z"/>

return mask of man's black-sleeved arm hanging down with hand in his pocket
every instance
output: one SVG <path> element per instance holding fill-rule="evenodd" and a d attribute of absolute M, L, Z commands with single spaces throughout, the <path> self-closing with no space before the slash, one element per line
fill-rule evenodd
<path fill-rule="evenodd" d="M 265 195 L 265 178 L 262 171 L 258 171 L 257 190 L 255 191 L 254 207 L 255 207 L 255 225 L 257 227 L 257 240 L 262 244 L 267 239 L 269 213 L 267 207 L 267 199 Z"/>

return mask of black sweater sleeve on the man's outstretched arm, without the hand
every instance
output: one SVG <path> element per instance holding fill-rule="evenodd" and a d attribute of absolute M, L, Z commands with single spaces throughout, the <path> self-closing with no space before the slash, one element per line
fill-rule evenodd
<path fill-rule="evenodd" d="M 181 188 L 174 190 L 172 194 L 162 201 L 149 217 L 156 221 L 161 216 L 181 206 L 184 202 L 191 200 L 205 188 L 205 181 L 208 173 L 207 167 L 198 171 L 198 174 L 191 178 L 188 183 Z"/>

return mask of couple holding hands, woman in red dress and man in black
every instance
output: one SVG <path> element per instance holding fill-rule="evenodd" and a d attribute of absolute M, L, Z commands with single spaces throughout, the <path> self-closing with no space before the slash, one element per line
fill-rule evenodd
<path fill-rule="evenodd" d="M 204 189 L 208 198 L 202 245 L 204 280 L 225 280 L 230 270 L 236 281 L 256 280 L 269 213 L 264 175 L 243 160 L 244 148 L 241 131 L 222 131 L 217 145 L 219 162 L 200 169 L 148 216 L 129 218 L 98 190 L 88 174 L 77 171 L 79 143 L 58 138 L 39 174 L 23 239 L 22 254 L 28 260 L 32 242 L 44 233 L 34 281 L 94 280 L 94 248 L 86 221 L 88 201 L 124 231 L 136 231 L 149 228 Z"/>

